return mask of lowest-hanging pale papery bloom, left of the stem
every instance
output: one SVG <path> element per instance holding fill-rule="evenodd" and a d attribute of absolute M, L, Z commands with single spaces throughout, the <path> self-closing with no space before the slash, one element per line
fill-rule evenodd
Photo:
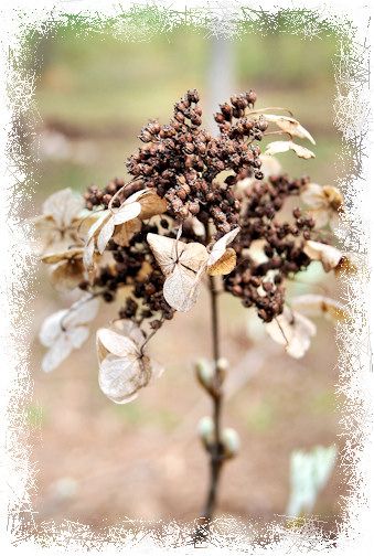
<path fill-rule="evenodd" d="M 131 321 L 116 321 L 96 333 L 99 386 L 116 404 L 135 399 L 138 391 L 162 372 L 145 353 L 143 344 L 141 330 Z"/>

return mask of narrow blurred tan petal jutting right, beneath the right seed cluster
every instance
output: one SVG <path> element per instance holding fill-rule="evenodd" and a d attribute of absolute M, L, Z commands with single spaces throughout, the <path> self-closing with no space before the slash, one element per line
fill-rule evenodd
<path fill-rule="evenodd" d="M 346 309 L 335 299 L 316 293 L 298 296 L 291 301 L 292 309 L 301 311 L 307 317 L 325 317 L 333 322 L 341 322 L 348 318 Z"/>

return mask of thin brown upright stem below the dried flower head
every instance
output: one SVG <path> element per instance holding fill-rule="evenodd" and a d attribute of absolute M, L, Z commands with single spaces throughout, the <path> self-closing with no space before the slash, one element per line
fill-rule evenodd
<path fill-rule="evenodd" d="M 205 523 L 212 520 L 212 515 L 216 505 L 217 487 L 222 469 L 222 450 L 221 450 L 221 413 L 222 413 L 222 372 L 220 371 L 220 328 L 218 328 L 218 307 L 217 307 L 217 290 L 215 288 L 215 279 L 210 276 L 210 296 L 211 296 L 211 313 L 212 313 L 212 340 L 213 340 L 213 361 L 214 361 L 214 378 L 212 388 L 213 402 L 213 424 L 214 424 L 214 442 L 211 448 L 211 479 L 207 492 L 207 498 L 202 514 Z"/>

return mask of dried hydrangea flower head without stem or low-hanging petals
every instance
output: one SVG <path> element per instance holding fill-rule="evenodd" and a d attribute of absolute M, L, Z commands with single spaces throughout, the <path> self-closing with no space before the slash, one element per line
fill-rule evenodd
<path fill-rule="evenodd" d="M 293 116 L 255 109 L 249 90 L 220 106 L 220 133 L 213 136 L 202 127 L 199 100 L 191 89 L 168 125 L 151 120 L 142 128 L 142 146 L 127 162 L 132 180 L 90 186 L 84 199 L 63 190 L 43 206 L 41 221 L 53 223 L 54 234 L 70 234 L 71 242 L 43 259 L 53 265 L 53 282 L 107 302 L 126 288 L 118 317 L 137 327 L 148 323 L 152 333 L 175 311 L 189 311 L 210 276 L 270 323 L 285 311 L 288 278 L 312 260 L 330 271 L 343 259 L 319 235 L 339 215 L 340 192 L 289 179 L 273 157 L 289 149 L 314 156 L 293 142 L 314 145 L 309 131 Z M 271 126 L 285 140 L 268 143 L 261 154 L 258 143 Z M 285 220 L 290 197 L 299 197 L 300 207 Z M 92 220 L 77 237 L 84 203 Z"/>

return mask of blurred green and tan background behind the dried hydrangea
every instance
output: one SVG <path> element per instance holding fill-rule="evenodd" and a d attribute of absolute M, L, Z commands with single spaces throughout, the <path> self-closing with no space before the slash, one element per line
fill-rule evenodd
<path fill-rule="evenodd" d="M 125 160 L 149 118 L 168 122 L 173 103 L 197 88 L 212 125 L 212 111 L 233 93 L 254 88 L 256 107 L 292 110 L 317 140 L 314 160 L 279 156 L 290 175 L 336 184 L 344 168 L 334 126 L 333 62 L 338 38 L 325 29 L 316 39 L 288 32 L 255 34 L 243 26 L 235 40 L 179 26 L 131 42 L 108 26 L 100 32 L 71 20 L 41 39 L 29 38 L 36 71 L 35 142 L 38 185 L 32 212 L 63 188 L 78 192 L 126 177 Z M 304 143 L 306 145 L 306 143 Z M 309 147 L 308 145 L 306 145 Z M 333 278 L 318 265 L 292 293 L 338 295 Z M 167 323 L 151 343 L 165 372 L 131 404 L 109 402 L 97 384 L 94 335 L 51 375 L 41 371 L 38 331 L 43 319 L 67 304 L 38 270 L 33 300 L 33 400 L 28 407 L 32 460 L 39 470 L 33 494 L 35 522 L 64 518 L 93 527 L 125 516 L 145 520 L 196 517 L 207 488 L 207 458 L 196 425 L 210 415 L 210 400 L 196 384 L 193 362 L 210 356 L 209 299 Z M 217 515 L 279 520 L 290 495 L 295 449 L 317 445 L 338 449 L 340 414 L 334 395 L 338 348 L 333 327 L 319 319 L 308 354 L 292 360 L 264 335 L 252 311 L 221 299 L 223 353 L 231 363 L 224 424 L 242 440 L 239 456 L 222 475 Z M 115 307 L 103 304 L 93 330 L 108 322 Z M 317 500 L 314 513 L 327 532 L 341 517 L 345 485 L 339 464 Z"/>

